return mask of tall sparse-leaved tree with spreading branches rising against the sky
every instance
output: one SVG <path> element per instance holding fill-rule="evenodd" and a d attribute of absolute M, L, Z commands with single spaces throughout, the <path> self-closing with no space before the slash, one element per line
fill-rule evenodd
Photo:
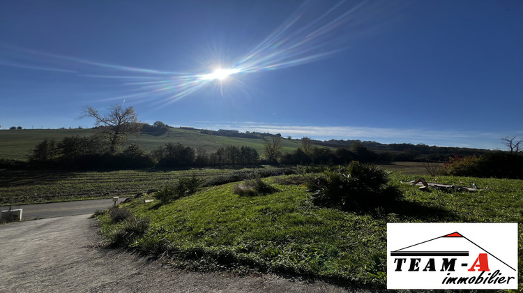
<path fill-rule="evenodd" d="M 109 107 L 109 112 L 102 115 L 93 107 L 84 107 L 82 118 L 92 117 L 96 120 L 96 126 L 100 127 L 103 135 L 107 136 L 111 147 L 110 153 L 115 153 L 127 135 L 137 134 L 140 130 L 138 123 L 138 115 L 135 113 L 134 107 L 123 109 L 121 105 L 112 105 Z"/>

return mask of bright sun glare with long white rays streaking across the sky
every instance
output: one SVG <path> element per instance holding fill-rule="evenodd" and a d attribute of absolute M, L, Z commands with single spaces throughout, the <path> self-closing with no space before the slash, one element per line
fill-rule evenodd
<path fill-rule="evenodd" d="M 123 90 L 109 100 L 126 98 L 150 103 L 155 99 L 158 103 L 173 103 L 209 84 L 214 84 L 223 93 L 225 81 L 227 84 L 231 80 L 237 81 L 232 75 L 298 66 L 333 57 L 346 50 L 354 36 L 370 29 L 370 20 L 379 19 L 378 14 L 391 10 L 386 3 L 363 1 L 354 4 L 342 0 L 326 7 L 325 1 L 305 1 L 252 50 L 227 66 L 218 66 L 212 73 L 119 66 L 14 47 L 9 50 L 15 52 L 11 61 L 6 61 L 9 56 L 2 52 L 0 66 L 119 80 Z M 215 64 L 222 64 L 222 61 L 215 60 Z"/>

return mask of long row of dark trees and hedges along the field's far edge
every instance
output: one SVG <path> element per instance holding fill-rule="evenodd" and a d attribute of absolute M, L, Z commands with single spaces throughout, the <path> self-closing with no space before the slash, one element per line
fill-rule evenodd
<path fill-rule="evenodd" d="M 353 144 L 350 149 L 335 151 L 312 145 L 307 137 L 301 140 L 300 147 L 290 153 L 282 153 L 281 137 L 276 135 L 266 140 L 262 156 L 253 147 L 220 147 L 214 152 L 203 148 L 192 148 L 180 143 L 169 142 L 152 151 L 144 151 L 137 144 L 126 149 L 114 147 L 104 131 L 89 137 L 73 135 L 61 141 L 43 140 L 38 143 L 29 156 L 33 167 L 68 169 L 121 169 L 121 168 L 170 168 L 204 167 L 223 165 L 308 165 L 308 164 L 347 164 L 353 160 L 370 163 L 381 156 L 369 151 L 361 144 Z"/>

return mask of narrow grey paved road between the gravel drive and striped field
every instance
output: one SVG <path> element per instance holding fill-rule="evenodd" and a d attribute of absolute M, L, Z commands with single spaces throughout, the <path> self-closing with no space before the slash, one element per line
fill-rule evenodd
<path fill-rule="evenodd" d="M 120 197 L 119 203 L 127 197 Z M 103 200 L 78 200 L 75 202 L 52 202 L 50 204 L 25 204 L 11 206 L 11 209 L 23 209 L 22 219 L 33 220 L 36 218 L 56 218 L 65 216 L 84 215 L 107 209 L 114 202 L 112 198 Z M 8 211 L 9 206 L 0 206 L 0 211 Z"/>

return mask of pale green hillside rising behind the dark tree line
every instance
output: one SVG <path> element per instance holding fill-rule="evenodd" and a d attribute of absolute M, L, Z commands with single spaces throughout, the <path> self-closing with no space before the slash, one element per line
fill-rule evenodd
<path fill-rule="evenodd" d="M 79 135 L 93 135 L 93 129 L 22 129 L 0 130 L 0 159 L 26 160 L 38 142 L 45 139 L 54 139 L 57 142 L 63 137 Z M 236 147 L 253 147 L 262 153 L 265 140 L 259 138 L 225 137 L 199 133 L 199 130 L 169 128 L 162 135 L 140 134 L 130 135 L 123 147 L 137 144 L 146 151 L 152 151 L 167 142 L 181 143 L 187 147 L 198 149 L 203 147 L 206 151 L 213 152 L 219 147 L 228 145 Z M 289 152 L 297 149 L 300 140 L 282 139 L 282 151 Z"/>

